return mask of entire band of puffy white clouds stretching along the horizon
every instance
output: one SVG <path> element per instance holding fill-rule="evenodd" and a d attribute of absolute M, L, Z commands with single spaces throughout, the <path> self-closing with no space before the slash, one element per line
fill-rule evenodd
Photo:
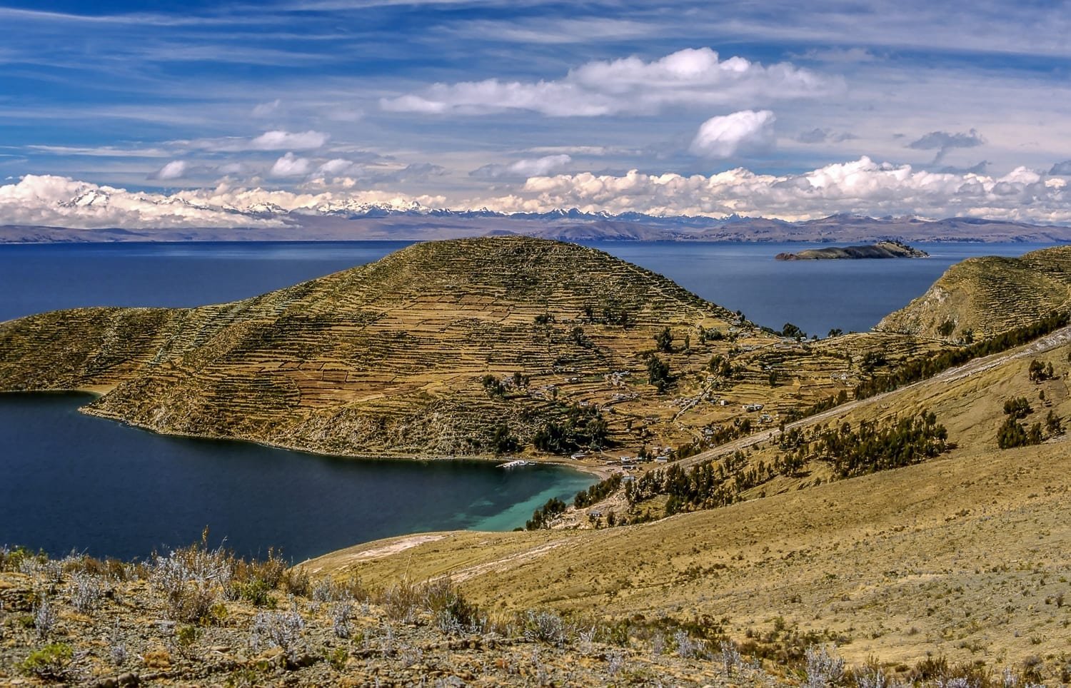
<path fill-rule="evenodd" d="M 285 156 L 284 156 L 285 157 Z M 869 157 L 798 174 L 737 168 L 711 175 L 579 172 L 530 177 L 498 195 L 454 200 L 361 189 L 356 181 L 319 193 L 266 188 L 186 189 L 171 195 L 129 192 L 63 177 L 28 174 L 0 186 L 0 224 L 60 227 L 256 227 L 281 225 L 266 209 L 322 212 L 362 203 L 501 212 L 642 212 L 652 215 L 730 213 L 810 219 L 833 213 L 872 216 L 989 217 L 1071 225 L 1068 181 L 1020 167 L 1004 175 L 931 172 Z"/>

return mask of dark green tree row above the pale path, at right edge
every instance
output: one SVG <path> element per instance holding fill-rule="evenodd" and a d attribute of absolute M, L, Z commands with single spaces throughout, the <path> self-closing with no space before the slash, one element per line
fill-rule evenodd
<path fill-rule="evenodd" d="M 1009 330 L 983 341 L 910 361 L 899 366 L 892 372 L 875 376 L 859 383 L 856 386 L 856 398 L 865 399 L 881 392 L 891 392 L 896 387 L 933 377 L 941 370 L 962 365 L 972 358 L 1007 351 L 1047 335 L 1066 324 L 1068 324 L 1068 314 L 1053 312 L 1032 324 Z"/>

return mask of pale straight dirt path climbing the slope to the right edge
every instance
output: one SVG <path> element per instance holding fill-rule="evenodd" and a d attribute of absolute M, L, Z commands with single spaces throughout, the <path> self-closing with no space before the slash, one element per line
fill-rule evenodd
<path fill-rule="evenodd" d="M 785 424 L 785 429 L 790 430 L 793 428 L 801 428 L 803 426 L 812 425 L 815 423 L 821 423 L 823 421 L 828 421 L 840 415 L 843 415 L 849 411 L 869 406 L 872 403 L 880 403 L 883 400 L 888 398 L 890 395 L 900 394 L 907 389 L 912 389 L 925 384 L 933 384 L 935 382 L 956 382 L 963 380 L 964 378 L 969 378 L 976 376 L 980 372 L 991 370 L 999 365 L 1002 365 L 1009 361 L 1015 358 L 1025 358 L 1027 356 L 1037 355 L 1039 353 L 1050 351 L 1057 347 L 1064 346 L 1071 342 L 1071 325 L 1061 327 L 1056 332 L 1050 333 L 1044 337 L 1040 337 L 1025 348 L 1012 353 L 995 353 L 991 356 L 985 356 L 983 358 L 975 358 L 974 361 L 968 361 L 962 366 L 955 368 L 949 368 L 948 370 L 942 370 L 932 378 L 926 378 L 925 380 L 919 380 L 918 382 L 912 382 L 911 384 L 904 385 L 903 387 L 897 387 L 892 392 L 883 392 L 881 394 L 874 395 L 866 399 L 858 399 L 856 401 L 848 401 L 847 403 L 842 403 L 839 407 L 833 407 L 829 411 L 823 411 L 821 413 L 816 413 L 814 415 L 801 418 L 799 421 L 794 421 L 793 423 Z M 749 434 L 745 438 L 740 438 L 738 440 L 733 440 L 731 442 L 726 442 L 725 444 L 720 444 L 713 449 L 707 449 L 695 456 L 690 456 L 687 459 L 681 459 L 677 462 L 677 465 L 681 468 L 689 468 L 703 463 L 704 461 L 709 461 L 726 454 L 731 454 L 738 449 L 745 449 L 752 445 L 758 444 L 759 442 L 768 442 L 773 438 L 778 437 L 781 431 L 776 428 L 770 430 L 764 430 L 761 432 L 756 432 L 755 434 Z"/>

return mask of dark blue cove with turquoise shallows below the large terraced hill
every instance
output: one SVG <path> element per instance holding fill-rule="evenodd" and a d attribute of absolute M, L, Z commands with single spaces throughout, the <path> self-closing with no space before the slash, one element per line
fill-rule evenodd
<path fill-rule="evenodd" d="M 130 560 L 209 542 L 291 561 L 380 537 L 507 531 L 594 476 L 484 461 L 356 460 L 154 434 L 78 412 L 90 397 L 0 395 L 0 545 Z"/>

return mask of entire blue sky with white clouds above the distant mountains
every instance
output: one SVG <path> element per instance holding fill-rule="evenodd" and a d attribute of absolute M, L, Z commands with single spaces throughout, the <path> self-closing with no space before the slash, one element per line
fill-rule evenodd
<path fill-rule="evenodd" d="M 1068 2 L 0 0 L 0 224 L 1071 224 Z"/>

